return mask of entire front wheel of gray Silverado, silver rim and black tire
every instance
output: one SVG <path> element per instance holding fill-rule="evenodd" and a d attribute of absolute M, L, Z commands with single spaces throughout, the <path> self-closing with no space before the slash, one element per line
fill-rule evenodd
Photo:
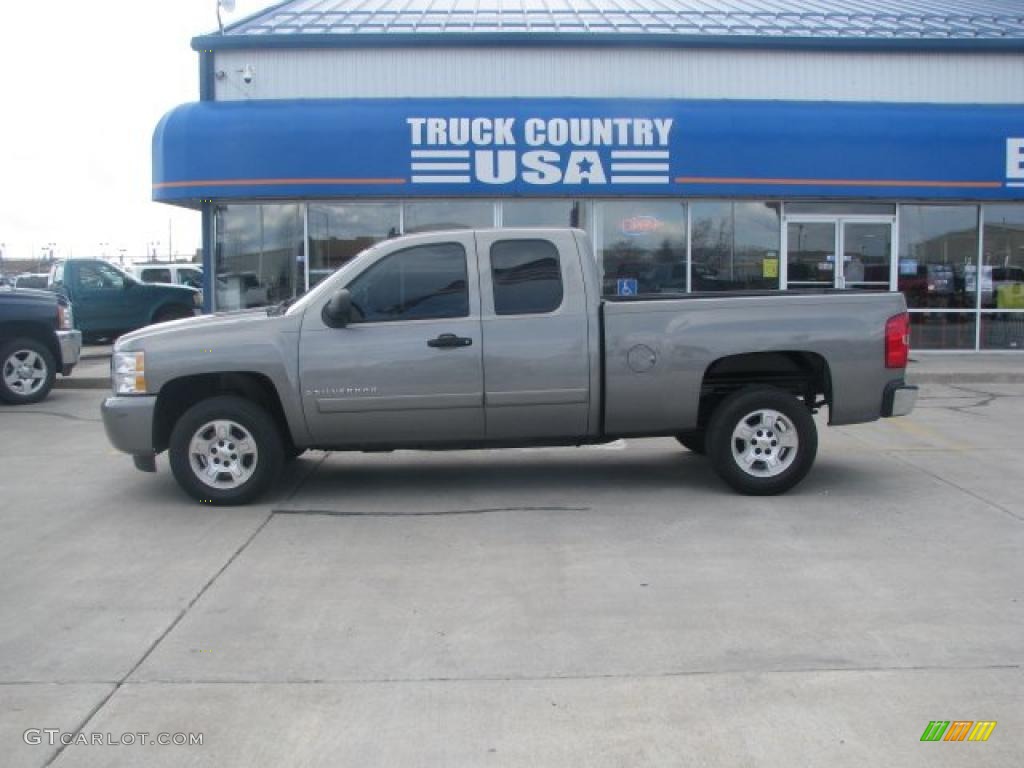
<path fill-rule="evenodd" d="M 185 492 L 215 505 L 248 504 L 276 480 L 283 440 L 270 416 L 252 400 L 221 395 L 202 400 L 171 431 L 171 471 Z"/>

